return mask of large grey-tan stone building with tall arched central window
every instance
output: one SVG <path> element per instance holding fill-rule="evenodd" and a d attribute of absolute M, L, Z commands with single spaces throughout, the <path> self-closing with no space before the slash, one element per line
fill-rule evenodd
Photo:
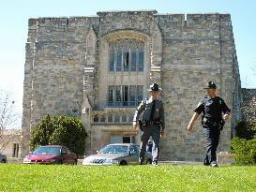
<path fill-rule="evenodd" d="M 203 129 L 188 121 L 207 81 L 233 109 L 219 150 L 239 118 L 240 77 L 230 14 L 106 11 L 90 17 L 30 19 L 23 84 L 23 154 L 46 113 L 73 115 L 89 134 L 86 154 L 112 142 L 139 142 L 131 126 L 146 88 L 162 87 L 166 134 L 161 159 L 202 160 Z"/>

